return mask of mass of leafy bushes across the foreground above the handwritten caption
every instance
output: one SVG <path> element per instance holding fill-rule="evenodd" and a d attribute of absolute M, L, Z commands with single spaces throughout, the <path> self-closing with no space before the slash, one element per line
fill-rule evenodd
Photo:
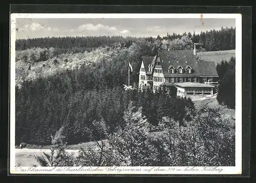
<path fill-rule="evenodd" d="M 61 160 L 58 165 L 234 166 L 234 126 L 221 118 L 218 109 L 201 106 L 183 126 L 166 117 L 156 135 L 149 135 L 151 125 L 143 120 L 141 109 L 133 112 L 131 103 L 124 120 L 113 134 L 107 134 L 107 142 L 96 141 L 94 149 L 82 148 L 72 161 L 65 150 L 58 151 L 65 154 L 56 156 Z"/>

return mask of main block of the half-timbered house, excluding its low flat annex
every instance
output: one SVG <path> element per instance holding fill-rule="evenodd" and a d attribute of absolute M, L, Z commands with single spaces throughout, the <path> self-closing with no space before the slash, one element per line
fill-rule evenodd
<path fill-rule="evenodd" d="M 174 85 L 177 88 L 177 83 L 211 83 L 217 80 L 215 62 L 202 61 L 196 49 L 194 51 L 158 51 L 155 57 L 142 57 L 139 74 L 140 89 L 147 87 L 155 92 L 163 85 Z"/>

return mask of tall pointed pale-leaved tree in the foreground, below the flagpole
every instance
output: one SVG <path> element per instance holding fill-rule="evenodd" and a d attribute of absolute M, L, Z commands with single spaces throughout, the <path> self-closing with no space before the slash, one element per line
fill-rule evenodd
<path fill-rule="evenodd" d="M 121 166 L 149 166 L 154 161 L 152 146 L 146 143 L 150 125 L 141 116 L 141 109 L 133 112 L 130 102 L 124 114 L 125 124 L 109 138 L 116 158 L 121 159 Z"/>

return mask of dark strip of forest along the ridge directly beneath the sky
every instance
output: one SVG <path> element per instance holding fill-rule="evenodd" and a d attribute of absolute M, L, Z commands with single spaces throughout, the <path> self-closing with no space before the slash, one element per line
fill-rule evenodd
<path fill-rule="evenodd" d="M 201 32 L 200 34 L 192 34 L 190 32 L 183 34 L 168 34 L 157 38 L 144 37 L 143 39 L 149 42 L 161 40 L 159 45 L 162 49 L 165 48 L 165 43 L 179 40 L 182 36 L 187 36 L 192 43 L 202 43 L 202 49 L 206 51 L 219 50 L 234 50 L 236 45 L 236 29 L 222 28 L 221 30 L 210 30 Z M 33 39 L 18 39 L 15 46 L 16 51 L 31 49 L 31 48 L 55 48 L 60 53 L 78 53 L 91 51 L 99 47 L 111 47 L 113 44 L 120 44 L 121 47 L 129 48 L 133 42 L 136 42 L 137 37 L 122 37 L 122 36 L 87 36 L 87 37 L 46 37 Z M 192 44 L 193 45 L 193 44 Z M 193 48 L 192 48 L 193 49 Z"/>

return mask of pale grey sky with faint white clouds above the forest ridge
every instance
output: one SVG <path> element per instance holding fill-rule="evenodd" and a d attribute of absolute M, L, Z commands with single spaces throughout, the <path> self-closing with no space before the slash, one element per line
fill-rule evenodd
<path fill-rule="evenodd" d="M 157 37 L 236 27 L 233 18 L 16 18 L 16 39 L 66 36 Z"/>

